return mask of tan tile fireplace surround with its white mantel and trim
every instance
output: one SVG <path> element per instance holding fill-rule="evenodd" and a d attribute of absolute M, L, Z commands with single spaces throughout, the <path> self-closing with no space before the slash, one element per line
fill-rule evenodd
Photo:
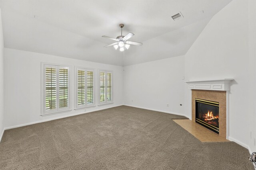
<path fill-rule="evenodd" d="M 188 81 L 191 89 L 192 122 L 196 121 L 195 99 L 219 102 L 219 136 L 228 139 L 229 136 L 229 90 L 230 81 L 234 79 Z"/>

